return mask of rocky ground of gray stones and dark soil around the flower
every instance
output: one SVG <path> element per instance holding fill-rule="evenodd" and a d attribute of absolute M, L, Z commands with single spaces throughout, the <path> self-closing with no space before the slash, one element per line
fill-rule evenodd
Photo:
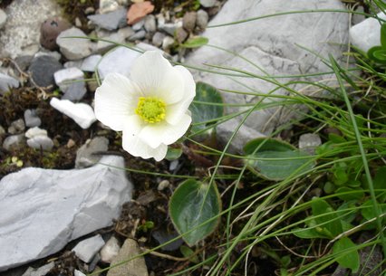
<path fill-rule="evenodd" d="M 236 56 L 229 57 L 228 52 L 209 47 L 191 52 L 184 47 L 189 39 L 204 35 L 210 43 L 243 54 L 276 75 L 327 70 L 323 62 L 309 52 L 299 51 L 294 43 L 321 55 L 332 53 L 337 59 L 343 58 L 349 36 L 347 14 L 304 14 L 302 20 L 296 16 L 286 18 L 285 24 L 273 19 L 206 31 L 212 18 L 211 24 L 215 25 L 272 14 L 284 7 L 344 8 L 338 0 L 324 1 L 316 7 L 307 0 L 292 4 L 260 2 L 0 2 L 0 209 L 9 210 L 7 215 L 0 214 L 0 241 L 7 241 L 2 247 L 8 251 L 0 252 L 1 276 L 82 275 L 169 241 L 177 235 L 169 221 L 169 196 L 181 181 L 173 175 L 205 176 L 207 167 L 214 164 L 211 157 L 195 155 L 197 146 L 189 143 L 183 148 L 184 154 L 174 160 L 154 162 L 130 157 L 121 149 L 120 134 L 96 121 L 92 109 L 93 92 L 98 86 L 95 71 L 101 79 L 111 71 L 126 73 L 139 55 L 125 47 L 114 48 L 116 44 L 107 41 L 136 45 L 142 50 L 159 49 L 172 62 L 256 70 Z M 86 35 L 92 39 L 80 38 Z M 221 75 L 201 71 L 195 73 L 195 78 L 219 89 L 245 90 L 237 81 Z M 267 81 L 243 81 L 250 89 L 274 89 Z M 225 93 L 224 98 L 245 104 L 258 97 Z M 246 140 L 272 132 L 293 115 L 285 109 L 256 112 L 240 129 L 231 150 L 240 150 Z M 236 118 L 218 126 L 218 141 L 210 141 L 210 146 L 219 148 L 239 121 Z M 321 138 L 308 135 L 300 141 L 303 144 L 300 142 L 299 147 L 307 148 L 319 145 Z M 99 161 L 104 166 L 93 166 Z M 126 167 L 129 172 L 113 167 Z M 220 192 L 227 185 L 227 181 L 220 183 Z M 240 196 L 250 192 L 241 191 Z M 11 195 L 22 196 L 15 202 Z M 31 240 L 43 242 L 36 245 Z M 217 242 L 216 238 L 208 241 L 207 252 L 216 252 Z M 189 261 L 179 252 L 182 243 L 170 243 L 101 275 L 183 271 Z M 274 275 L 272 262 L 262 259 L 259 263 L 259 275 Z"/>

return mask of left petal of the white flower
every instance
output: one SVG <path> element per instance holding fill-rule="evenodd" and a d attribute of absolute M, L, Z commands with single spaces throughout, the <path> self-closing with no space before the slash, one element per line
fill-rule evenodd
<path fill-rule="evenodd" d="M 135 114 L 140 89 L 128 78 L 111 73 L 95 91 L 95 117 L 104 125 L 123 130 L 128 116 Z"/>

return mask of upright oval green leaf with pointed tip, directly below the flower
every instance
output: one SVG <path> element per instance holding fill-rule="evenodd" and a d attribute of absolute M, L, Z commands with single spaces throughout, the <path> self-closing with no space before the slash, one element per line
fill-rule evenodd
<path fill-rule="evenodd" d="M 217 227 L 221 200 L 215 184 L 188 179 L 174 191 L 169 201 L 169 214 L 176 230 L 189 246 L 205 239 Z M 202 225 L 201 225 L 202 224 Z"/>

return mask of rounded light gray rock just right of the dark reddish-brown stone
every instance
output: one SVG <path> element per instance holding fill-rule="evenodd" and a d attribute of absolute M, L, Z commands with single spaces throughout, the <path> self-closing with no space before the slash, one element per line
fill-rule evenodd
<path fill-rule="evenodd" d="M 68 38 L 72 36 L 84 38 Z M 82 30 L 72 27 L 59 34 L 56 38 L 56 43 L 59 45 L 61 52 L 67 59 L 71 61 L 80 60 L 92 53 L 92 43 L 86 39 L 86 37 L 87 35 L 83 33 Z"/>

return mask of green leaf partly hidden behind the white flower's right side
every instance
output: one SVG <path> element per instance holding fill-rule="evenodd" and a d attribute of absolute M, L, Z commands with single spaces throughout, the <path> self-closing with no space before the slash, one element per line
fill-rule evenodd
<path fill-rule="evenodd" d="M 190 105 L 193 126 L 192 133 L 196 133 L 213 124 L 216 119 L 224 115 L 223 98 L 216 88 L 198 81 L 196 97 Z"/>

